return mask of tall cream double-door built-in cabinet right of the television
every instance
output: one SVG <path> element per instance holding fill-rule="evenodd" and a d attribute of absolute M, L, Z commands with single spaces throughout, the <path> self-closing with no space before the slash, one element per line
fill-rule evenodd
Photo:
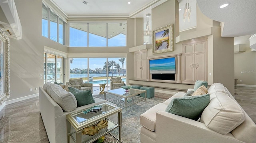
<path fill-rule="evenodd" d="M 182 83 L 207 81 L 206 43 L 203 39 L 182 44 Z"/>

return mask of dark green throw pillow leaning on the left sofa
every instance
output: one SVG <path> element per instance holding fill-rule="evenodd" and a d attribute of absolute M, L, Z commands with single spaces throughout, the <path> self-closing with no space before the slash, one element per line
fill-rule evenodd
<path fill-rule="evenodd" d="M 94 98 L 92 97 L 91 89 L 89 90 L 79 90 L 74 87 L 68 87 L 69 91 L 74 94 L 77 101 L 77 107 L 95 103 Z"/>

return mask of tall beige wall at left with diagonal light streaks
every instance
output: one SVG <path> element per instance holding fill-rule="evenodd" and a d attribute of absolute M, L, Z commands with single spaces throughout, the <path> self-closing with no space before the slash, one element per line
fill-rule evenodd
<path fill-rule="evenodd" d="M 38 93 L 43 85 L 44 48 L 53 47 L 67 52 L 67 47 L 42 36 L 42 1 L 15 0 L 22 24 L 22 39 L 10 38 L 10 98 L 17 99 Z M 32 91 L 30 91 L 32 88 Z"/>

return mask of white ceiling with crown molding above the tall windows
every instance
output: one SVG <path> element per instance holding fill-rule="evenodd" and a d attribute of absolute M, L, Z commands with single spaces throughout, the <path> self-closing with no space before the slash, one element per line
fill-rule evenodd
<path fill-rule="evenodd" d="M 143 18 L 167 0 L 51 0 L 68 17 Z M 84 2 L 85 1 L 85 2 Z M 87 4 L 84 4 L 86 3 Z M 130 4 L 128 4 L 130 2 Z"/>

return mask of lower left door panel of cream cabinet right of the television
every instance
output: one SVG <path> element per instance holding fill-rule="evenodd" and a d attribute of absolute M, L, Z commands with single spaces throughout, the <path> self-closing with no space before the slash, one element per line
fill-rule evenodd
<path fill-rule="evenodd" d="M 184 55 L 184 81 L 194 81 L 193 55 Z"/>

